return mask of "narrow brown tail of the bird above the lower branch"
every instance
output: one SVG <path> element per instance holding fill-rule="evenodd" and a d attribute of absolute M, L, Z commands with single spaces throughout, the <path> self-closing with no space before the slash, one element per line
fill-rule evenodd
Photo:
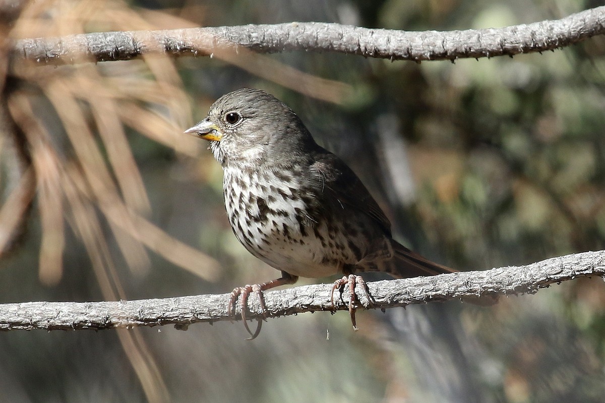
<path fill-rule="evenodd" d="M 453 273 L 458 270 L 434 263 L 416 252 L 410 251 L 407 247 L 391 240 L 394 256 L 387 263 L 387 272 L 396 278 L 432 276 L 443 273 Z"/>

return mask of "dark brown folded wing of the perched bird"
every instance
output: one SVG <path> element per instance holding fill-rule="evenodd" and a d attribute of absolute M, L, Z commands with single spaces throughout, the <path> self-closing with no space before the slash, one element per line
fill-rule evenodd
<path fill-rule="evenodd" d="M 385 234 L 391 235 L 391 222 L 355 172 L 339 157 L 329 151 L 316 155 L 315 161 L 310 165 L 310 173 L 321 179 L 315 181 L 316 186 L 321 186 L 319 191 L 330 194 L 342 208 L 347 206 L 368 215 L 381 226 Z"/>

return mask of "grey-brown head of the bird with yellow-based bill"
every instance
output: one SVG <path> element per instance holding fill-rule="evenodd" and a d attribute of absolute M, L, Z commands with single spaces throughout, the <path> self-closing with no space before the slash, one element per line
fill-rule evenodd
<path fill-rule="evenodd" d="M 209 148 L 223 166 L 280 159 L 287 157 L 280 154 L 293 154 L 309 141 L 315 144 L 288 106 L 271 94 L 248 88 L 221 96 L 208 116 L 185 133 L 210 140 Z"/>

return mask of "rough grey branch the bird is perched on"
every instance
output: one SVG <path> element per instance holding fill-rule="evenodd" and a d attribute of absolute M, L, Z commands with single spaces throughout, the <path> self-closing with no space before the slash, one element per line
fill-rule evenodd
<path fill-rule="evenodd" d="M 375 281 L 368 286 L 376 300 L 374 308 L 386 309 L 430 301 L 534 293 L 553 283 L 591 276 L 605 276 L 605 251 L 555 257 L 520 267 Z M 331 289 L 332 284 L 314 284 L 266 292 L 269 316 L 332 310 Z M 347 301 L 346 290 L 342 297 Z M 229 320 L 228 303 L 229 295 L 221 294 L 96 303 L 0 304 L 0 330 L 97 330 L 165 324 L 186 329 L 191 323 Z M 249 317 L 260 318 L 258 298 L 251 295 L 248 306 L 253 312 Z M 339 301 L 336 309 L 345 310 L 347 305 Z"/>

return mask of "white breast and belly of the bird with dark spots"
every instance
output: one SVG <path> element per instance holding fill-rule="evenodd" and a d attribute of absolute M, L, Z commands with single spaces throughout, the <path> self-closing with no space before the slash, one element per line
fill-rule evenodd
<path fill-rule="evenodd" d="M 343 229 L 321 218 L 321 195 L 302 182 L 283 171 L 226 166 L 223 190 L 231 228 L 251 254 L 291 275 L 342 272 L 362 253 Z"/>

